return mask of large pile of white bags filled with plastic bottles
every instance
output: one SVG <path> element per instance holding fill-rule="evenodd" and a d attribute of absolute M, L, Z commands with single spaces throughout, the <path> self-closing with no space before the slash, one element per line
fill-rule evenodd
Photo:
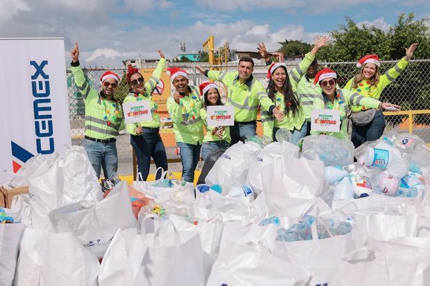
<path fill-rule="evenodd" d="M 381 170 L 353 163 L 351 146 L 329 136 L 305 138 L 302 150 L 286 141 L 236 143 L 216 161 L 206 185 L 135 181 L 132 186 L 153 199 L 141 208 L 139 220 L 125 182 L 101 199 L 82 148 L 71 148 L 65 159 L 33 159 L 10 181 L 28 181 L 31 195 L 16 197 L 10 210 L 23 224 L 0 224 L 0 243 L 14 242 L 0 247 L 5 269 L 0 280 L 14 279 L 15 285 L 427 285 L 430 163 L 411 150 L 399 151 L 415 160 L 411 172 L 420 180 L 414 185 L 420 185 L 418 195 L 393 197 L 377 188 L 372 193 L 372 172 Z M 336 194 L 345 190 L 345 178 L 353 182 L 349 197 Z M 412 181 L 406 177 L 398 187 L 415 188 L 406 186 Z M 16 270 L 7 260 L 17 261 Z"/>

